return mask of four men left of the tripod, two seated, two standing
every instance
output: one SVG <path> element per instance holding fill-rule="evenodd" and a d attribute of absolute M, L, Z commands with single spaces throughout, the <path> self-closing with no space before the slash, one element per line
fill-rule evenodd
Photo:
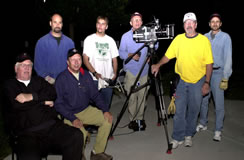
<path fill-rule="evenodd" d="M 15 64 L 15 79 L 4 85 L 9 100 L 7 119 L 18 136 L 18 158 L 40 159 L 55 150 L 63 159 L 85 160 L 85 126 L 95 125 L 98 132 L 90 159 L 112 160 L 105 153 L 113 120 L 109 112 L 112 92 L 106 91 L 105 83 L 98 90 L 97 82 L 115 79 L 117 73 L 118 50 L 113 39 L 105 35 L 108 20 L 99 16 L 97 32 L 85 40 L 84 61 L 92 72 L 82 68 L 81 52 L 62 33 L 63 20 L 59 14 L 52 15 L 50 26 L 51 31 L 36 44 L 37 76 L 32 76 L 31 57 L 21 53 Z"/>

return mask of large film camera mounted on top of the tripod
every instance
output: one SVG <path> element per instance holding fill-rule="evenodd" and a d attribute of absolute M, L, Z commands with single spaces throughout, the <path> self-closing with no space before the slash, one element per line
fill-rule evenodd
<path fill-rule="evenodd" d="M 137 43 L 156 42 L 161 39 L 173 39 L 174 24 L 167 24 L 161 27 L 159 20 L 154 17 L 154 21 L 141 26 L 133 32 L 133 39 Z"/>

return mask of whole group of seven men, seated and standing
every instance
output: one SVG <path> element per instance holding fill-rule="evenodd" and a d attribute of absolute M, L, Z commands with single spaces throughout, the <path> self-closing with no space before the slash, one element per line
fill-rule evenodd
<path fill-rule="evenodd" d="M 220 30 L 220 15 L 210 17 L 211 31 L 206 36 L 196 32 L 194 13 L 185 14 L 183 23 L 185 33 L 175 37 L 165 56 L 151 66 L 152 74 L 157 76 L 160 66 L 176 58 L 175 72 L 180 81 L 176 89 L 173 148 L 183 142 L 185 146 L 192 146 L 195 132 L 207 129 L 210 91 L 216 107 L 214 140 L 221 140 L 224 90 L 232 73 L 231 39 Z M 86 125 L 98 127 L 91 160 L 113 159 L 105 153 L 113 121 L 109 112 L 113 91 L 107 87 L 107 80 L 116 80 L 118 56 L 125 61 L 144 45 L 133 40 L 133 31 L 142 24 L 140 13 L 131 15 L 132 28 L 123 34 L 118 50 L 113 38 L 105 34 L 108 18 L 98 16 L 96 33 L 85 39 L 82 55 L 75 49 L 74 42 L 62 33 L 62 17 L 52 15 L 51 31 L 38 40 L 35 48 L 34 69 L 38 76 L 32 76 L 31 57 L 22 53 L 16 59 L 15 79 L 8 80 L 5 85 L 5 95 L 9 100 L 8 120 L 11 130 L 18 135 L 20 160 L 40 159 L 53 149 L 60 151 L 63 159 L 86 159 Z M 127 93 L 147 52 L 148 48 L 143 48 L 123 66 Z M 82 58 L 86 69 L 82 67 Z M 143 68 L 138 85 L 147 82 L 149 63 Z M 147 91 L 148 88 L 141 89 L 130 97 L 130 129 L 146 128 L 144 110 Z M 200 123 L 197 125 L 200 111 Z M 63 121 L 57 118 L 57 112 L 64 117 Z"/>

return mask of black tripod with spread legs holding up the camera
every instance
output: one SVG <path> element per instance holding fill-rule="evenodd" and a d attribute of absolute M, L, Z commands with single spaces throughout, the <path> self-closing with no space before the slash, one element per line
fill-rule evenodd
<path fill-rule="evenodd" d="M 153 79 L 154 85 L 155 85 L 155 91 L 156 91 L 155 99 L 156 99 L 156 109 L 158 111 L 158 124 L 160 125 L 162 123 L 163 126 L 164 126 L 166 140 L 167 140 L 167 143 L 168 143 L 167 153 L 171 153 L 172 144 L 170 144 L 170 142 L 169 142 L 169 135 L 168 135 L 168 128 L 167 128 L 167 113 L 166 113 L 165 105 L 164 105 L 164 99 L 163 99 L 163 92 L 162 92 L 162 88 L 161 88 L 160 75 L 158 74 L 157 77 L 151 76 L 153 78 L 150 78 L 145 84 L 142 84 L 139 87 L 137 86 L 137 82 L 138 82 L 138 80 L 139 80 L 139 78 L 141 76 L 141 73 L 142 73 L 146 63 L 149 61 L 150 58 L 151 58 L 150 63 L 154 64 L 153 55 L 155 54 L 155 42 L 146 42 L 146 43 L 144 43 L 144 45 L 141 46 L 135 53 L 133 53 L 132 56 L 128 57 L 125 60 L 125 64 L 127 64 L 133 58 L 133 56 L 135 56 L 137 53 L 139 53 L 146 46 L 148 47 L 147 57 L 145 58 L 145 60 L 143 62 L 143 65 L 142 65 L 142 67 L 141 67 L 141 69 L 140 69 L 140 71 L 139 71 L 139 73 L 138 73 L 138 75 L 136 77 L 136 80 L 135 80 L 134 84 L 131 86 L 131 90 L 130 90 L 129 94 L 127 94 L 127 98 L 126 98 L 126 101 L 125 101 L 125 103 L 123 105 L 123 108 L 122 108 L 120 114 L 118 115 L 117 121 L 113 125 L 112 130 L 110 132 L 110 137 L 113 137 L 113 133 L 114 133 L 115 129 L 117 128 L 117 126 L 118 126 L 118 124 L 119 124 L 124 112 L 126 111 L 126 109 L 128 107 L 130 96 L 133 93 L 139 91 L 140 89 L 150 85 L 151 84 L 151 79 Z"/>

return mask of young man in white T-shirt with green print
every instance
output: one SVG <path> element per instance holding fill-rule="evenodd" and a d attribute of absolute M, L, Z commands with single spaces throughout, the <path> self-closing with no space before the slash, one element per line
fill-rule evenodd
<path fill-rule="evenodd" d="M 96 33 L 87 36 L 84 41 L 83 60 L 109 108 L 113 90 L 107 87 L 109 84 L 105 80 L 116 79 L 119 52 L 114 39 L 105 34 L 107 17 L 97 17 L 96 29 Z"/>

